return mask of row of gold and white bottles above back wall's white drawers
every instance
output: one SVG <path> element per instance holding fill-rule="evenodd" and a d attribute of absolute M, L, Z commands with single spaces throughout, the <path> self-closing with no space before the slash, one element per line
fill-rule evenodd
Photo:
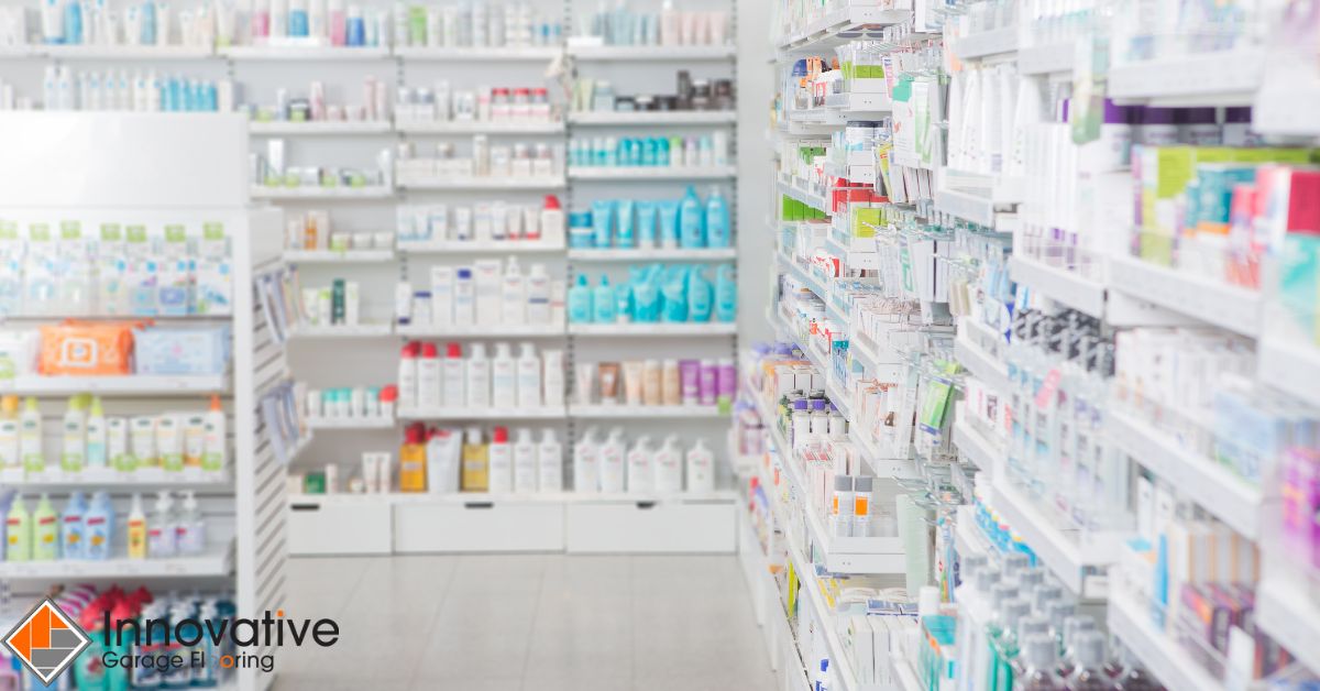
<path fill-rule="evenodd" d="M 495 427 L 486 441 L 482 428 L 475 425 L 466 429 L 409 425 L 399 448 L 399 491 L 562 491 L 564 447 L 554 431 L 544 429 L 540 441 L 531 429 L 513 432 L 511 440 L 507 427 Z"/>

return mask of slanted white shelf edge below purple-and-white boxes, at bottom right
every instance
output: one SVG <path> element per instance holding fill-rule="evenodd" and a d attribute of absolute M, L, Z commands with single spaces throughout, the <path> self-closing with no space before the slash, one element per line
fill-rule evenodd
<path fill-rule="evenodd" d="M 1125 592 L 1109 599 L 1109 632 L 1123 645 L 1162 684 L 1168 688 L 1222 690 L 1224 683 L 1212 676 L 1172 636 L 1155 628 L 1148 608 L 1142 606 Z"/>

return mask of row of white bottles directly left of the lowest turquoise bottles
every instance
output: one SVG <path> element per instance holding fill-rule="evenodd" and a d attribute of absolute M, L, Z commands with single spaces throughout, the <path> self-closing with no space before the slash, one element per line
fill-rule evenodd
<path fill-rule="evenodd" d="M 516 258 L 502 270 L 499 259 L 469 267 L 430 267 L 429 289 L 400 283 L 395 316 L 401 325 L 425 326 L 556 326 L 564 324 L 564 281 L 533 263 L 524 276 Z"/>

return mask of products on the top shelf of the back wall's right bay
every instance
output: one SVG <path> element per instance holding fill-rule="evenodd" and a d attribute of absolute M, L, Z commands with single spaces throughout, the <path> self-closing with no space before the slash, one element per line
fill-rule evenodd
<path fill-rule="evenodd" d="M 729 12 L 678 11 L 672 1 L 659 12 L 649 3 L 624 1 L 612 9 L 602 5 L 582 17 L 582 28 L 569 45 L 723 46 L 730 34 Z"/>

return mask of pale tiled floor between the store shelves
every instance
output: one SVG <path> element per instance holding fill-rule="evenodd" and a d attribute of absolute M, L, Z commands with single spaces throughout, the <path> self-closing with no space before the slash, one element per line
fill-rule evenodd
<path fill-rule="evenodd" d="M 735 556 L 296 559 L 277 691 L 759 691 L 774 673 Z"/>

